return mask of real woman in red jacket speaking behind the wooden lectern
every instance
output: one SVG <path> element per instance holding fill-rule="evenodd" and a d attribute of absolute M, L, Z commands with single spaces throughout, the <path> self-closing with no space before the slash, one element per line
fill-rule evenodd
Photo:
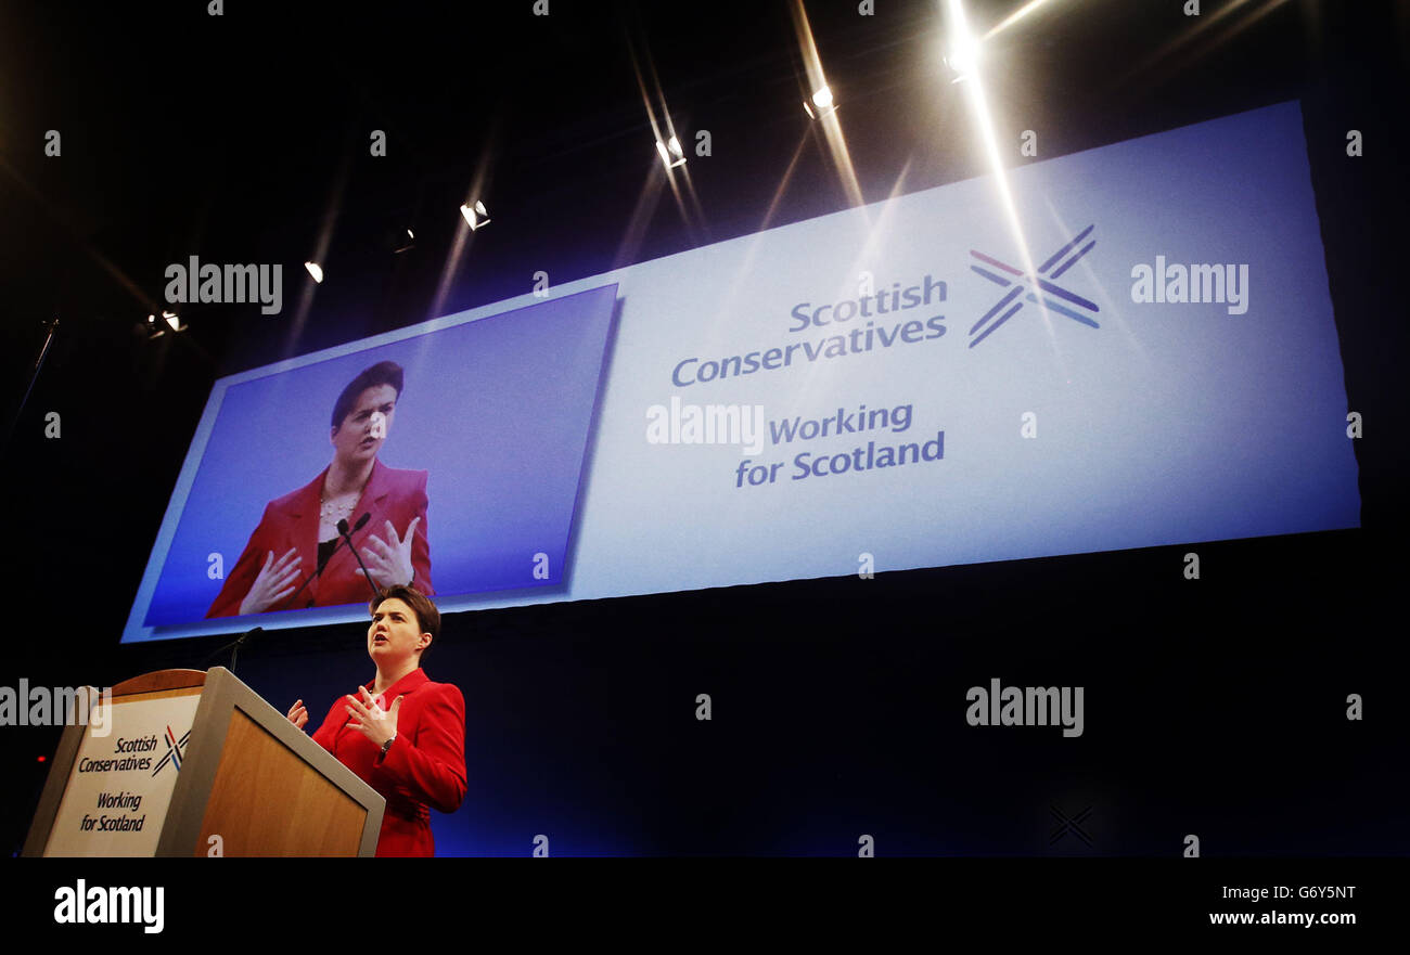
<path fill-rule="evenodd" d="M 429 807 L 454 813 L 465 799 L 465 699 L 431 683 L 422 654 L 440 634 L 440 611 L 413 587 L 388 587 L 371 603 L 367 652 L 376 678 L 333 703 L 313 741 L 386 799 L 376 854 L 436 855 Z M 299 700 L 289 721 L 300 730 Z"/>

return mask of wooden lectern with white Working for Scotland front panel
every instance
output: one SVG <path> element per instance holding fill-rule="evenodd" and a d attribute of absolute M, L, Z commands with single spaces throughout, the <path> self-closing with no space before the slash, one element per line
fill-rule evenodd
<path fill-rule="evenodd" d="M 230 670 L 159 670 L 63 731 L 24 855 L 374 855 L 384 807 Z"/>

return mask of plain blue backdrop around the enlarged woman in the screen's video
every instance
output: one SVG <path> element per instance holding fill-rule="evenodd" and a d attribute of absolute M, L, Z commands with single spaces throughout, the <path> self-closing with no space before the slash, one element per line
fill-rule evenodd
<path fill-rule="evenodd" d="M 439 593 L 561 580 L 613 289 L 530 306 L 230 386 L 192 483 L 147 623 L 204 617 L 265 504 L 333 456 L 329 418 L 364 368 L 405 369 L 378 459 L 427 470 L 431 580 Z M 406 528 L 396 528 L 405 532 Z M 384 527 L 368 527 L 362 535 Z M 361 541 L 360 541 L 361 542 Z M 548 578 L 532 575 L 548 555 Z M 278 555 L 276 555 L 278 556 Z"/>

